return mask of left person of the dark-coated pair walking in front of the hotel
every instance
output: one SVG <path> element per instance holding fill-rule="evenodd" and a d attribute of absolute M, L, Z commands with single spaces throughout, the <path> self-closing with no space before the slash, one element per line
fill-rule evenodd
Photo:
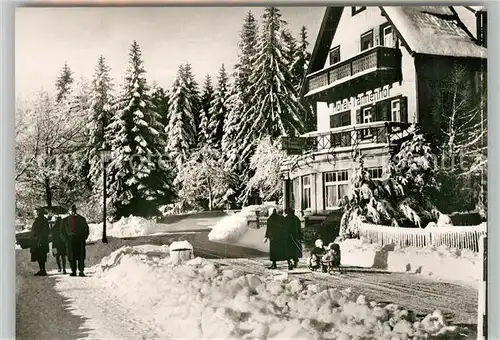
<path fill-rule="evenodd" d="M 288 268 L 292 268 L 290 257 L 288 256 L 288 237 L 283 217 L 278 215 L 276 209 L 269 209 L 269 217 L 267 219 L 266 236 L 264 242 L 269 240 L 269 259 L 272 264 L 269 269 L 276 269 L 277 261 L 287 261 Z"/>

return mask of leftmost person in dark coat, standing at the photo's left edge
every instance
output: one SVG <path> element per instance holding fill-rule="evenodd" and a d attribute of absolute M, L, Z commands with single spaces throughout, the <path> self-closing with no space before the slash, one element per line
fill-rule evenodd
<path fill-rule="evenodd" d="M 31 227 L 31 262 L 38 262 L 40 270 L 35 276 L 47 276 L 45 264 L 49 252 L 49 221 L 43 216 L 41 209 L 36 210 L 36 218 Z"/>

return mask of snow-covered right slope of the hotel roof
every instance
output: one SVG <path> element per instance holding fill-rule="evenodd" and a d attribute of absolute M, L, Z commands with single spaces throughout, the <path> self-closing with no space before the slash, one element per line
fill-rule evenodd
<path fill-rule="evenodd" d="M 414 53 L 452 57 L 486 58 L 486 48 L 478 45 L 448 6 L 382 7 L 408 48 Z"/>

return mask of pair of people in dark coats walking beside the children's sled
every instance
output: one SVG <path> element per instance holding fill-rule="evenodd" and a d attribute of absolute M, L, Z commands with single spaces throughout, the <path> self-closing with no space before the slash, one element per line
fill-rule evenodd
<path fill-rule="evenodd" d="M 300 219 L 288 207 L 284 215 L 279 215 L 275 208 L 269 209 L 264 242 L 269 241 L 269 269 L 276 269 L 276 262 L 287 261 L 288 269 L 297 268 L 302 257 L 302 228 Z"/>

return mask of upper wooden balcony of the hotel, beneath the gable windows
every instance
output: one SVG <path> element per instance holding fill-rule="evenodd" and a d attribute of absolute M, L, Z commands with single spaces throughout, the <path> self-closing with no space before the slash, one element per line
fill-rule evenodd
<path fill-rule="evenodd" d="M 401 79 L 401 51 L 376 46 L 307 75 L 305 96 L 335 101 Z"/>

